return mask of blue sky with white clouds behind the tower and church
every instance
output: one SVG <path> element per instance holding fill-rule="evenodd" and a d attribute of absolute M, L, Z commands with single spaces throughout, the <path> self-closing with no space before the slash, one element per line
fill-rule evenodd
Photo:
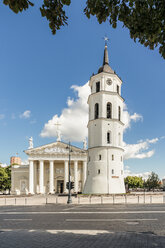
<path fill-rule="evenodd" d="M 36 2 L 36 1 L 35 1 Z M 66 8 L 68 26 L 53 36 L 39 5 L 20 14 L 0 5 L 0 162 L 10 163 L 34 146 L 62 140 L 82 147 L 87 136 L 88 81 L 102 65 L 109 37 L 109 63 L 123 81 L 125 173 L 165 177 L 165 61 L 118 23 L 98 24 L 83 14 L 85 1 Z"/>

